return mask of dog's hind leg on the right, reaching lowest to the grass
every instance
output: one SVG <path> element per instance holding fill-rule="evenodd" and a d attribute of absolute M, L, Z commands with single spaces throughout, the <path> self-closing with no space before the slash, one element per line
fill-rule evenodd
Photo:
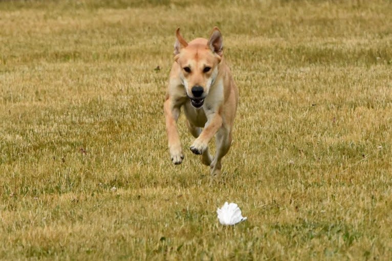
<path fill-rule="evenodd" d="M 228 130 L 224 127 L 220 128 L 216 133 L 216 154 L 210 165 L 212 177 L 219 177 L 221 175 L 221 160 L 223 156 L 228 153 L 231 146 L 231 141 L 231 130 Z"/>

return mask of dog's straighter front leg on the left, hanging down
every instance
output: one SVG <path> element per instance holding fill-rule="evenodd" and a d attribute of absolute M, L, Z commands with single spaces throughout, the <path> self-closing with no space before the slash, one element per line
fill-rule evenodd
<path fill-rule="evenodd" d="M 170 97 L 168 97 L 163 108 L 171 161 L 176 165 L 181 164 L 184 155 L 182 154 L 180 135 L 178 134 L 177 129 L 177 120 L 180 117 L 180 107 L 175 106 Z"/>

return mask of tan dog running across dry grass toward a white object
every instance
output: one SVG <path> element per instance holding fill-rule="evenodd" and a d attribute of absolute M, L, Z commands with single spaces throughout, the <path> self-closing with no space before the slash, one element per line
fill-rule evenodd
<path fill-rule="evenodd" d="M 181 164 L 184 155 L 177 130 L 181 107 L 189 132 L 197 139 L 190 146 L 202 155 L 211 175 L 221 173 L 221 159 L 229 151 L 238 104 L 238 89 L 223 57 L 222 34 L 217 27 L 210 38 L 196 38 L 189 43 L 176 30 L 175 62 L 170 71 L 164 114 L 171 160 Z M 202 128 L 204 128 L 202 130 Z M 216 134 L 216 154 L 212 159 L 208 142 Z"/>

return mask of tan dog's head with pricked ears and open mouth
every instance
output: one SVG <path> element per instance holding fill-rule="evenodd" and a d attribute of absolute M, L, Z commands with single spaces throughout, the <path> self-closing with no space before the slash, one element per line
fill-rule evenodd
<path fill-rule="evenodd" d="M 214 27 L 208 40 L 197 38 L 188 44 L 177 28 L 176 37 L 174 54 L 181 68 L 180 78 L 192 105 L 200 108 L 216 79 L 223 56 L 221 31 Z"/>

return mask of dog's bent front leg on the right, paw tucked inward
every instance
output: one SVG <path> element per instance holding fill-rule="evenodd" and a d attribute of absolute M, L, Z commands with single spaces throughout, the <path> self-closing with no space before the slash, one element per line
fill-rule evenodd
<path fill-rule="evenodd" d="M 215 133 L 222 126 L 222 116 L 214 113 L 207 115 L 207 123 L 197 139 L 190 146 L 192 153 L 201 155 L 208 147 L 208 142 L 214 137 Z"/>

